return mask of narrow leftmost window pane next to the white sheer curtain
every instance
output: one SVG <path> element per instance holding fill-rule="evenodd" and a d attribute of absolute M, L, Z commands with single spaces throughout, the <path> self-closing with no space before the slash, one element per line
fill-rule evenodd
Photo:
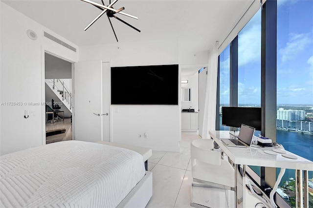
<path fill-rule="evenodd" d="M 220 130 L 229 130 L 229 126 L 222 125 L 222 106 L 230 105 L 230 45 L 220 54 Z"/>

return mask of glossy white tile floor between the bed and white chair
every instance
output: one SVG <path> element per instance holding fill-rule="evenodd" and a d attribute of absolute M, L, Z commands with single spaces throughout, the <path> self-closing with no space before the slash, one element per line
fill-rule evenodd
<path fill-rule="evenodd" d="M 148 160 L 148 170 L 153 172 L 153 196 L 147 208 L 190 207 L 190 142 L 198 138 L 197 133 L 182 133 L 179 152 L 153 151 Z"/>

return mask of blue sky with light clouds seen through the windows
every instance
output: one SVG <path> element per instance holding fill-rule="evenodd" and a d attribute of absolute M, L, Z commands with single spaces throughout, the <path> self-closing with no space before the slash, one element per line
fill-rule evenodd
<path fill-rule="evenodd" d="M 313 0 L 277 4 L 277 104 L 313 104 Z M 258 11 L 238 35 L 239 104 L 261 103 L 260 34 Z M 223 104 L 229 102 L 229 47 L 220 61 Z"/>

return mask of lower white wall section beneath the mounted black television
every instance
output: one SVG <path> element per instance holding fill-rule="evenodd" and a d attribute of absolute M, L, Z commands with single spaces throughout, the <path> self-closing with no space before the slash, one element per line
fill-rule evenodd
<path fill-rule="evenodd" d="M 178 106 L 112 105 L 112 142 L 179 151 L 179 113 Z"/>

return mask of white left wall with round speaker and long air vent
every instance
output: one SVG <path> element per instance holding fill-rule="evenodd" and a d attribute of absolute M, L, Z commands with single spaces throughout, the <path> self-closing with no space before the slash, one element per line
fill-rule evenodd
<path fill-rule="evenodd" d="M 78 53 L 45 38 L 43 32 L 73 46 L 75 44 L 2 1 L 0 4 L 0 96 L 3 103 L 0 106 L 0 154 L 3 155 L 45 144 L 45 106 L 40 104 L 45 102 L 45 50 L 72 62 L 78 61 Z M 36 41 L 27 37 L 28 29 L 35 31 Z M 21 105 L 6 105 L 6 102 L 20 102 Z M 40 105 L 28 105 L 28 102 Z M 35 116 L 25 119 L 24 110 L 33 111 Z"/>

